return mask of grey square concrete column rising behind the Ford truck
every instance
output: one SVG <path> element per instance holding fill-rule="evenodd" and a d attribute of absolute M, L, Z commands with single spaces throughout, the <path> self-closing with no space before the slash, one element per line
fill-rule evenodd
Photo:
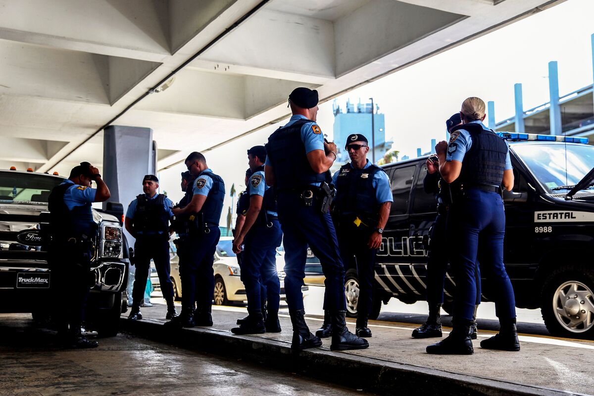
<path fill-rule="evenodd" d="M 121 202 L 124 214 L 132 199 L 142 194 L 144 175 L 154 175 L 156 157 L 150 128 L 112 125 L 103 131 L 103 180 L 111 192 L 109 200 Z M 126 234 L 128 242 L 133 243 L 134 239 Z"/>

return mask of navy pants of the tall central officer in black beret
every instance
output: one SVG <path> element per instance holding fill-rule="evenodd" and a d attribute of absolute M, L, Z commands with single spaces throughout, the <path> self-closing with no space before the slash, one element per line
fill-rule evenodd
<path fill-rule="evenodd" d="M 345 311 L 345 269 L 330 214 L 318 205 L 305 206 L 296 192 L 279 192 L 279 220 L 285 246 L 285 293 L 290 310 L 304 309 L 303 293 L 307 246 L 320 259 L 326 280 L 324 309 Z"/>

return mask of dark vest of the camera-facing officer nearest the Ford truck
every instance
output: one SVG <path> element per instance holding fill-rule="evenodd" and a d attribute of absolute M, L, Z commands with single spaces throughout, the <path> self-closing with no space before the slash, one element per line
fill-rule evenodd
<path fill-rule="evenodd" d="M 169 232 L 169 213 L 165 210 L 165 195 L 159 194 L 156 198 L 149 199 L 145 194 L 140 194 L 137 199 L 136 212 L 134 213 L 134 230 L 144 235 Z"/>

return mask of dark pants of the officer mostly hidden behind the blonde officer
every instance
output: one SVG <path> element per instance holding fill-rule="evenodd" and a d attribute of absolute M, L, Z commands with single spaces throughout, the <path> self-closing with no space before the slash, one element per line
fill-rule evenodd
<path fill-rule="evenodd" d="M 427 303 L 429 305 L 443 304 L 444 302 L 445 273 L 450 261 L 450 247 L 447 243 L 447 217 L 447 211 L 438 213 L 431 229 L 431 235 L 429 235 L 431 239 L 427 258 Z M 479 305 L 481 303 L 481 271 L 478 264 L 475 268 L 475 304 Z"/>

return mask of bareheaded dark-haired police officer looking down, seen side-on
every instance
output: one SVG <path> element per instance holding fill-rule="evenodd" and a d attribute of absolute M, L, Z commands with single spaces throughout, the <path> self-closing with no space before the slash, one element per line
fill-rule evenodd
<path fill-rule="evenodd" d="M 225 183 L 197 151 L 189 154 L 185 164 L 196 178 L 192 199 L 186 207 L 173 209 L 175 216 L 189 216 L 191 220 L 188 239 L 183 243 L 183 249 L 187 251 L 182 277 L 184 294 L 181 315 L 168 323 L 175 327 L 212 326 L 213 262 L 221 235 L 219 221 L 225 199 Z"/>

